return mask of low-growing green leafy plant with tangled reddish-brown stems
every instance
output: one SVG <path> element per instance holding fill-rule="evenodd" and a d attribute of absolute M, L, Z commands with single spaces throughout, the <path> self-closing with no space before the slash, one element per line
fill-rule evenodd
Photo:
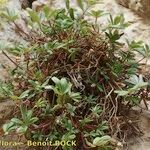
<path fill-rule="evenodd" d="M 137 133 L 126 115 L 147 98 L 148 83 L 137 74 L 134 52 L 149 49 L 141 52 L 133 42 L 124 48 L 120 38 L 129 24 L 122 14 L 109 15 L 102 27 L 98 19 L 108 13 L 91 10 L 97 1 L 77 0 L 80 13 L 65 2 L 64 9 L 27 9 L 25 30 L 16 21 L 21 16 L 2 13 L 26 41 L 2 49 L 23 58 L 12 61 L 12 87 L 0 86 L 20 110 L 3 129 L 34 141 L 76 140 L 75 147 L 52 149 L 114 149 L 114 137 L 124 141 Z"/>

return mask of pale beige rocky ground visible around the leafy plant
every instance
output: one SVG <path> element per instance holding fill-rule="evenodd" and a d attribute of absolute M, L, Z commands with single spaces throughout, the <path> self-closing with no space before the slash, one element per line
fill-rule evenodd
<path fill-rule="evenodd" d="M 72 0 L 74 3 L 75 0 Z M 116 3 L 119 2 L 119 4 Z M 104 0 L 102 4 L 96 6 L 95 9 L 103 9 L 106 12 L 110 12 L 113 15 L 123 13 L 126 20 L 132 22 L 132 25 L 125 30 L 125 37 L 128 40 L 142 40 L 145 43 L 150 43 L 150 22 L 148 21 L 148 15 L 150 14 L 150 1 L 149 0 Z M 134 3 L 133 3 L 134 2 Z M 34 9 L 38 4 L 35 3 Z M 38 5 L 39 6 L 39 5 Z M 63 0 L 55 0 L 55 7 L 62 7 Z M 127 8 L 125 8 L 125 7 Z M 148 6 L 148 8 L 147 8 Z M 21 5 L 19 0 L 10 0 L 8 2 L 9 8 L 14 8 L 21 10 Z M 144 8 L 143 8 L 144 7 Z M 132 11 L 133 10 L 133 11 Z M 145 10 L 145 12 L 143 12 Z M 104 18 L 99 20 L 100 22 L 105 22 Z M 17 35 L 10 29 L 10 25 L 7 23 L 3 25 L 3 29 L 0 30 L 0 40 L 12 40 L 19 39 Z M 124 40 L 124 39 L 123 39 Z M 140 56 L 137 56 L 140 57 Z M 12 67 L 11 62 L 0 53 L 0 79 L 5 80 L 8 78 L 6 68 L 7 66 Z M 148 60 L 147 66 L 143 69 L 149 74 L 150 70 L 150 60 Z M 7 112 L 13 108 L 13 103 L 9 101 L 3 101 L 0 103 L 0 120 L 4 121 Z M 144 106 L 143 106 L 144 107 Z M 5 114 L 5 115 L 4 115 Z M 8 113 L 9 114 L 9 113 Z M 144 131 L 144 136 L 133 139 L 129 142 L 129 147 L 126 150 L 150 150 L 150 112 L 144 110 L 141 117 L 141 128 Z M 1 148 L 0 148 L 1 150 Z"/>

